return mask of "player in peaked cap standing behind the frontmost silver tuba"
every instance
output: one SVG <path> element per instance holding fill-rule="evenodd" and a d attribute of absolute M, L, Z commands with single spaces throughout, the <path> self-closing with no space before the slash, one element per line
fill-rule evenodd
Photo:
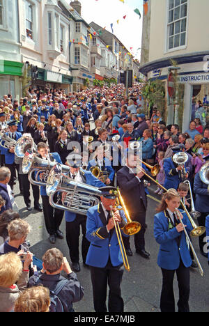
<path fill-rule="evenodd" d="M 69 176 L 77 183 L 86 183 L 94 187 L 104 187 L 104 183 L 95 178 L 90 171 L 83 171 L 82 156 L 76 153 L 70 153 L 67 157 L 70 166 Z M 65 211 L 66 240 L 70 251 L 72 268 L 75 272 L 80 271 L 79 265 L 79 229 L 82 226 L 82 258 L 84 266 L 86 265 L 86 255 L 88 252 L 89 242 L 86 239 L 86 216 L 76 214 L 75 212 Z"/>

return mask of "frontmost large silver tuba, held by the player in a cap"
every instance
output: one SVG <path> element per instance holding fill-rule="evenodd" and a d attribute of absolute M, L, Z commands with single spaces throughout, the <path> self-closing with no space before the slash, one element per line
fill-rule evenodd
<path fill-rule="evenodd" d="M 81 215 L 86 215 L 89 208 L 98 205 L 100 203 L 98 197 L 102 195 L 102 191 L 97 187 L 76 183 L 75 180 L 63 175 L 59 165 L 54 166 L 50 171 L 46 191 L 52 207 Z M 59 199 L 54 202 L 54 196 L 57 194 L 62 198 L 61 204 Z"/>

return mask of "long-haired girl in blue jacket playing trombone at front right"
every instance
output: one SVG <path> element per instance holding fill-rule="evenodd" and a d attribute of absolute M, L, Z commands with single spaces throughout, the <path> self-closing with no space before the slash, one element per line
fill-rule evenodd
<path fill-rule="evenodd" d="M 154 236 L 157 243 L 160 244 L 157 265 L 162 270 L 162 292 L 160 297 L 162 312 L 175 312 L 173 294 L 175 272 L 179 288 L 178 311 L 189 312 L 189 267 L 192 264 L 192 259 L 183 232 L 183 225 L 179 223 L 176 214 L 179 205 L 180 195 L 176 189 L 169 189 L 162 197 L 154 220 Z M 192 231 L 192 224 L 185 213 L 178 212 L 189 233 Z"/>

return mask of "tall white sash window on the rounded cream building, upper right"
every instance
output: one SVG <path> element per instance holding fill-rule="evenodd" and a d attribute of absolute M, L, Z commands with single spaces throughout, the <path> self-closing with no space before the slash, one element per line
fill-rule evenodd
<path fill-rule="evenodd" d="M 174 0 L 175 1 L 175 0 Z M 181 2 L 181 0 L 180 0 Z M 187 15 L 184 16 L 184 17 L 180 17 L 178 20 L 172 20 L 172 22 L 169 22 L 169 12 L 170 12 L 170 9 L 169 9 L 169 0 L 167 0 L 167 15 L 166 15 L 166 42 L 165 42 L 165 49 L 164 49 L 164 53 L 169 53 L 169 52 L 174 52 L 174 51 L 180 51 L 182 49 L 186 49 L 187 48 L 187 37 L 188 37 L 188 20 L 189 20 L 189 0 L 187 0 Z M 176 6 L 174 5 L 173 7 L 173 10 L 175 8 L 181 8 L 185 3 L 180 3 L 179 6 Z M 174 18 L 174 17 L 173 17 Z M 184 19 L 186 19 L 186 26 L 185 26 L 185 45 L 179 45 L 178 47 L 172 47 L 171 49 L 169 49 L 169 39 L 170 39 L 170 36 L 169 36 L 169 31 L 170 31 L 170 26 L 171 24 L 174 24 L 174 29 L 175 29 L 175 23 L 176 22 L 182 22 Z M 179 33 L 175 33 L 175 30 L 173 31 L 173 38 L 175 38 L 176 35 L 181 35 L 182 33 L 184 32 L 179 32 Z M 173 40 L 173 45 L 174 45 L 174 40 Z"/>

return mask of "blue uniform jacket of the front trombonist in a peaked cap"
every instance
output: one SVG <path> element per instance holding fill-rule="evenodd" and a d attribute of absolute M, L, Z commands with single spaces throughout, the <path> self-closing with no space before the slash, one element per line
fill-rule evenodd
<path fill-rule="evenodd" d="M 120 215 L 125 219 L 123 210 Z M 91 242 L 86 256 L 86 264 L 95 267 L 105 267 L 110 258 L 113 266 L 123 264 L 121 250 L 115 229 L 107 232 L 106 218 L 101 205 L 89 208 L 86 222 L 86 238 Z M 123 231 L 121 231 L 123 235 Z M 125 235 L 127 236 L 127 235 Z"/>

